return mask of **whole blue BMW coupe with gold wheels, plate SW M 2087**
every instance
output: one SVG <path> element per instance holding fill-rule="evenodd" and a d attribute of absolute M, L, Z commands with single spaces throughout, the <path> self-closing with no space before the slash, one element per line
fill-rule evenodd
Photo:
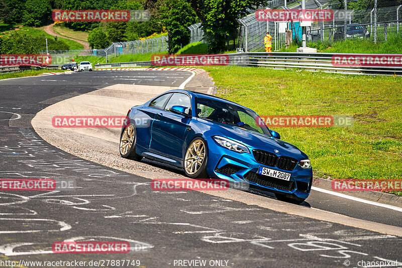
<path fill-rule="evenodd" d="M 127 114 L 120 154 L 184 168 L 191 178 L 246 182 L 302 203 L 310 194 L 313 171 L 308 156 L 260 124 L 258 115 L 214 96 L 173 90 Z"/>

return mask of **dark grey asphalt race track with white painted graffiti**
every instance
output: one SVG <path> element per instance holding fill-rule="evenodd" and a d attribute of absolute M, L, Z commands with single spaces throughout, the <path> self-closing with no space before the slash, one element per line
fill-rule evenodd
<path fill-rule="evenodd" d="M 52 192 L 1 191 L 0 261 L 18 261 L 21 267 L 40 267 L 27 264 L 35 260 L 124 259 L 139 260 L 134 264 L 143 267 L 195 267 L 203 260 L 205 267 L 359 267 L 364 266 L 361 261 L 397 260 L 393 266 L 402 266 L 400 211 L 317 191 L 312 191 L 303 206 L 236 190 L 222 196 L 157 192 L 151 189 L 149 178 L 50 145 L 31 125 L 32 118 L 46 107 L 106 86 L 178 87 L 190 75 L 183 71 L 95 71 L 0 80 L 0 178 L 52 177 L 72 180 L 77 187 Z M 88 150 L 92 146 L 102 144 L 88 144 Z M 154 168 L 180 174 L 169 167 Z M 250 205 L 249 200 L 259 203 Z M 353 224 L 339 223 L 342 217 Z M 142 251 L 53 253 L 52 244 L 66 240 L 128 241 L 141 245 Z M 104 262 L 103 266 L 123 265 Z"/>

